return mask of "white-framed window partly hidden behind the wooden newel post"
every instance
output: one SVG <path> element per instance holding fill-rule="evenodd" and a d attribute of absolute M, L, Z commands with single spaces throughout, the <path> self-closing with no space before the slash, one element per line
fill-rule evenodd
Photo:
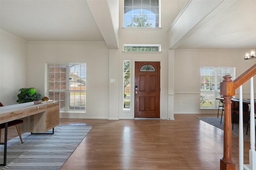
<path fill-rule="evenodd" d="M 200 68 L 200 108 L 217 108 L 220 97 L 220 82 L 224 75 L 235 79 L 234 67 L 201 67 Z"/>

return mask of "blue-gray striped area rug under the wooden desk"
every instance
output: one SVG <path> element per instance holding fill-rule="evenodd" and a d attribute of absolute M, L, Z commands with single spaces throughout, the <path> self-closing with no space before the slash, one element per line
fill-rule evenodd
<path fill-rule="evenodd" d="M 30 134 L 7 142 L 6 166 L 0 170 L 59 170 L 92 126 L 58 125 L 54 134 Z M 49 131 L 49 132 L 52 132 Z M 4 145 L 0 145 L 0 161 L 3 162 Z"/>

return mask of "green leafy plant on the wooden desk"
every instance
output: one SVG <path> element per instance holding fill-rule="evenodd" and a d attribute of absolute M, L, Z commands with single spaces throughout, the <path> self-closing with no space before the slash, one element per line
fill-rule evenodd
<path fill-rule="evenodd" d="M 42 98 L 41 94 L 37 93 L 34 88 L 21 88 L 19 89 L 20 94 L 18 94 L 18 103 L 27 103 L 40 100 Z"/>

